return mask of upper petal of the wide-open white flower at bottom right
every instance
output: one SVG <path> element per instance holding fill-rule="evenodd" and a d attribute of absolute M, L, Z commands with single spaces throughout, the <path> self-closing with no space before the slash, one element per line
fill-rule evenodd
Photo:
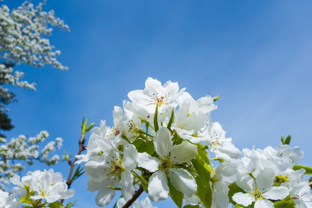
<path fill-rule="evenodd" d="M 275 177 L 275 172 L 271 168 L 265 168 L 259 171 L 256 177 L 256 185 L 262 191 L 267 191 L 273 186 L 273 180 Z"/>

